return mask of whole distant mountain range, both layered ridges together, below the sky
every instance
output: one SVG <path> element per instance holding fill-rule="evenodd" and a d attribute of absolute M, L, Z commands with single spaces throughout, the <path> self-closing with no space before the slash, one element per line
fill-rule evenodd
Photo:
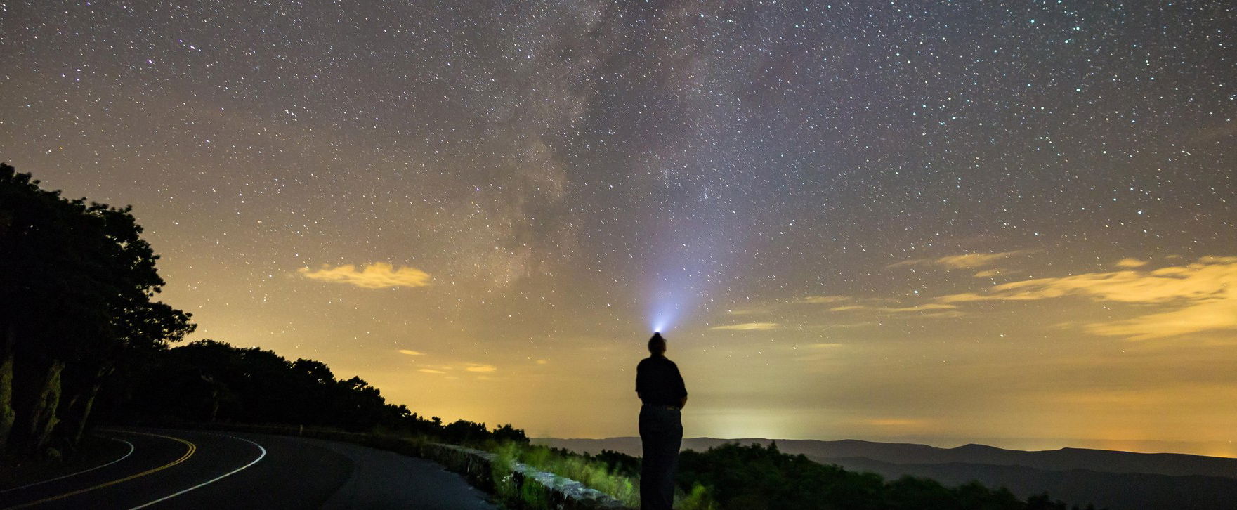
<path fill-rule="evenodd" d="M 683 449 L 705 451 L 737 442 L 768 444 L 784 453 L 804 454 L 821 464 L 872 472 L 887 479 L 903 475 L 935 479 L 955 486 L 978 480 L 1004 486 L 1025 498 L 1048 491 L 1071 504 L 1110 510 L 1178 510 L 1233 508 L 1237 501 L 1237 459 L 1184 453 L 1133 453 L 1107 449 L 1004 449 L 985 444 L 936 448 L 913 443 L 842 439 L 683 439 Z M 638 437 L 605 439 L 533 438 L 534 444 L 580 453 L 611 449 L 641 454 Z"/>

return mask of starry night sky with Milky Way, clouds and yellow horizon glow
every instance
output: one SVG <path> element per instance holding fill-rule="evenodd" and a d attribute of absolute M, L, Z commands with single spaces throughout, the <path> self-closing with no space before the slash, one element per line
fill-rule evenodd
<path fill-rule="evenodd" d="M 0 160 L 444 420 L 1237 456 L 1228 1 L 0 1 Z"/>

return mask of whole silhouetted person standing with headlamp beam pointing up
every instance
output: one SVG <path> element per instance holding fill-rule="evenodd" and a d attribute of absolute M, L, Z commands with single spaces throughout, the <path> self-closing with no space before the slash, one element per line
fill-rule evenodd
<path fill-rule="evenodd" d="M 679 366 L 666 359 L 666 339 L 653 333 L 648 358 L 636 365 L 636 396 L 640 407 L 640 442 L 644 451 L 640 467 L 640 508 L 670 510 L 674 504 L 674 468 L 683 443 L 680 410 L 688 390 Z"/>

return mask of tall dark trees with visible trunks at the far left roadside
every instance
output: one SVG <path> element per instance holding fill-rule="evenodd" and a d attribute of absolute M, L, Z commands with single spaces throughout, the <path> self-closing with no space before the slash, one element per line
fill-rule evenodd
<path fill-rule="evenodd" d="M 130 208 L 64 199 L 0 163 L 0 454 L 74 448 L 105 378 L 193 331 L 155 296 Z"/>

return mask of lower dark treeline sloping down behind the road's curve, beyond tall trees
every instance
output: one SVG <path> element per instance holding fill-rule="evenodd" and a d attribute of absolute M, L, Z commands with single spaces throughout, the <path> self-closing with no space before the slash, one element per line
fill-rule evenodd
<path fill-rule="evenodd" d="M 490 441 L 527 443 L 510 423 L 424 417 L 387 404 L 359 376 L 335 379 L 322 361 L 283 357 L 259 348 L 198 340 L 148 357 L 132 378 L 116 380 L 118 420 L 293 425 L 423 436 L 456 444 Z"/>

